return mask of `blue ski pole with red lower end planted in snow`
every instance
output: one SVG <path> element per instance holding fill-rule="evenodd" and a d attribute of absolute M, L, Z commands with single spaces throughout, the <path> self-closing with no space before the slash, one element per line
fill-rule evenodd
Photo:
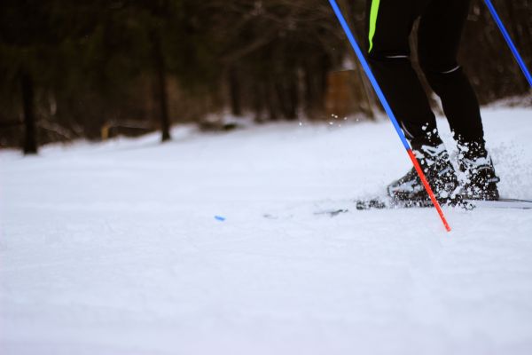
<path fill-rule="evenodd" d="M 401 130 L 401 127 L 399 126 L 399 122 L 397 122 L 397 119 L 395 118 L 395 114 L 392 111 L 392 107 L 389 106 L 386 97 L 384 96 L 384 93 L 380 89 L 379 83 L 377 82 L 377 79 L 373 75 L 372 69 L 370 68 L 367 60 L 364 58 L 364 54 L 361 51 L 360 47 L 358 46 L 358 43 L 356 43 L 355 36 L 353 36 L 353 33 L 351 32 L 351 29 L 348 26 L 348 23 L 344 19 L 340 7 L 338 4 L 336 4 L 336 0 L 329 0 L 329 3 L 331 3 L 332 10 L 336 14 L 336 17 L 340 21 L 340 25 L 343 28 L 344 32 L 346 33 L 346 36 L 348 36 L 349 43 L 351 43 L 351 46 L 353 47 L 353 50 L 356 53 L 356 57 L 358 57 L 358 60 L 362 64 L 362 67 L 364 68 L 365 74 L 370 79 L 370 82 L 372 83 L 373 89 L 377 93 L 377 96 L 379 97 L 380 103 L 384 107 L 384 110 L 386 111 L 388 117 L 392 121 L 392 124 L 395 127 L 395 130 L 397 131 L 397 134 L 399 135 L 399 138 L 403 142 L 403 146 L 406 149 L 406 152 L 408 153 L 409 157 L 411 158 L 412 163 L 414 164 L 414 168 L 418 172 L 419 178 L 421 179 L 421 182 L 425 186 L 426 193 L 430 196 L 431 201 L 434 204 L 434 207 L 438 211 L 438 215 L 442 219 L 442 223 L 445 226 L 445 229 L 447 232 L 450 232 L 450 225 L 447 223 L 447 219 L 443 215 L 442 207 L 440 206 L 440 203 L 436 200 L 436 197 L 434 196 L 434 192 L 432 191 L 432 188 L 430 185 L 428 185 L 428 182 L 426 181 L 425 173 L 419 166 L 419 162 L 416 159 L 416 156 L 412 152 L 411 146 L 408 143 L 408 140 L 406 140 L 406 137 L 404 137 L 403 130 Z"/>

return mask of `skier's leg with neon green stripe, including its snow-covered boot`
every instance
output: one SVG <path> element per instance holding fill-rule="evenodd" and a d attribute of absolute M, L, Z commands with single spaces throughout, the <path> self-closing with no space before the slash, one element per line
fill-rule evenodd
<path fill-rule="evenodd" d="M 368 0 L 369 61 L 434 193 L 440 201 L 450 201 L 457 178 L 410 60 L 411 28 L 428 1 Z M 388 185 L 387 191 L 398 200 L 428 199 L 415 170 Z"/>

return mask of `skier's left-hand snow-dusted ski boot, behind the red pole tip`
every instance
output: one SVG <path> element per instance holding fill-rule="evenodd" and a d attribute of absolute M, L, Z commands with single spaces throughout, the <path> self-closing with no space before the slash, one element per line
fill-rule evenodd
<path fill-rule="evenodd" d="M 438 146 L 420 146 L 413 149 L 413 152 L 436 199 L 442 204 L 456 205 L 460 200 L 458 177 L 443 143 Z M 394 201 L 418 201 L 420 206 L 430 201 L 415 168 L 388 185 L 387 193 Z"/>

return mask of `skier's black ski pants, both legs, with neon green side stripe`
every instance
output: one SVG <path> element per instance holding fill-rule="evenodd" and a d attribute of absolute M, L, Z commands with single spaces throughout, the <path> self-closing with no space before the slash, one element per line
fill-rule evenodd
<path fill-rule="evenodd" d="M 409 36 L 420 18 L 418 57 L 426 80 L 442 99 L 458 143 L 484 151 L 478 99 L 457 61 L 469 6 L 470 0 L 367 0 L 370 65 L 414 148 L 441 143 L 426 92 L 411 66 Z"/>

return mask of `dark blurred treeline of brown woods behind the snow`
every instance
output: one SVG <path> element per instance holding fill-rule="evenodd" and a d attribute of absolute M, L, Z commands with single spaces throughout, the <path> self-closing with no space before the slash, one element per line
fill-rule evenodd
<path fill-rule="evenodd" d="M 363 39 L 365 0 L 339 3 Z M 473 3 L 461 62 L 481 103 L 526 92 L 489 12 Z M 532 0 L 494 3 L 532 65 Z M 338 103 L 327 101 L 342 99 L 348 114 L 376 105 L 327 0 L 0 2 L 1 146 L 31 153 L 119 131 L 166 140 L 172 124 L 223 112 L 328 119 Z"/>

